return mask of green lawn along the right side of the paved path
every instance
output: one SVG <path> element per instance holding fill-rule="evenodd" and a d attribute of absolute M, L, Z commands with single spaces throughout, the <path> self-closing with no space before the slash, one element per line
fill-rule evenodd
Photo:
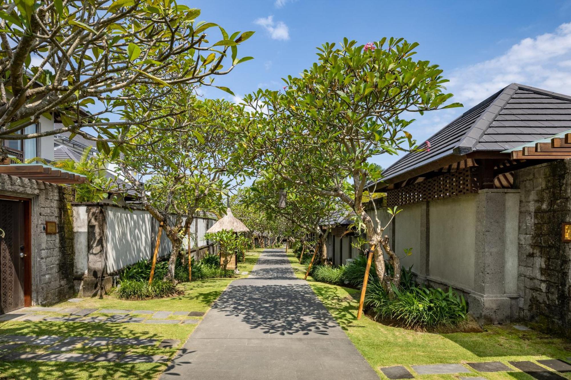
<path fill-rule="evenodd" d="M 303 278 L 303 266 L 297 258 L 289 255 L 296 276 Z M 349 339 L 357 347 L 381 379 L 386 377 L 380 367 L 438 363 L 466 363 L 500 361 L 521 361 L 537 359 L 565 359 L 571 357 L 571 342 L 545 335 L 533 330 L 520 331 L 511 325 L 484 326 L 483 333 L 420 333 L 412 330 L 393 328 L 379 324 L 367 316 L 356 320 L 360 290 L 344 288 L 313 281 L 308 277 L 313 292 L 345 330 Z M 477 373 L 486 379 L 533 380 L 520 371 L 500 373 Z M 562 374 L 571 379 L 571 374 Z M 426 380 L 456 379 L 457 375 L 424 375 Z"/>

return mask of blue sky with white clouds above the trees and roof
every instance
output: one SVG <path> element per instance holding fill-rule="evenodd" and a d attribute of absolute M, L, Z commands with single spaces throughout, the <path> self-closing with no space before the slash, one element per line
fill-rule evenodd
<path fill-rule="evenodd" d="M 255 30 L 238 56 L 255 59 L 216 78 L 237 96 L 278 89 L 316 61 L 315 47 L 343 37 L 360 43 L 403 37 L 420 43 L 419 59 L 439 64 L 448 90 L 465 108 L 419 116 L 409 131 L 423 141 L 487 96 L 512 82 L 571 94 L 571 1 L 325 1 L 186 2 L 199 20 L 229 33 Z M 570 23 L 568 25 L 568 23 Z M 217 36 L 218 37 L 218 36 Z M 208 97 L 226 97 L 208 88 Z M 387 167 L 396 156 L 375 159 Z"/>

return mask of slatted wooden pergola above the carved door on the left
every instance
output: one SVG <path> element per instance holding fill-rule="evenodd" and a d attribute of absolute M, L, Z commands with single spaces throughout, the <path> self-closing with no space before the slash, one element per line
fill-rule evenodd
<path fill-rule="evenodd" d="M 86 182 L 85 176 L 43 164 L 0 165 L 0 174 L 53 184 L 80 184 Z"/>

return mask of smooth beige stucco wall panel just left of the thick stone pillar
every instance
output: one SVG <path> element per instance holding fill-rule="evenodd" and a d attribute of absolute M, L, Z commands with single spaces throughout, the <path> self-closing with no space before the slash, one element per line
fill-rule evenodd
<path fill-rule="evenodd" d="M 476 195 L 431 201 L 429 223 L 430 276 L 448 284 L 472 289 Z"/>

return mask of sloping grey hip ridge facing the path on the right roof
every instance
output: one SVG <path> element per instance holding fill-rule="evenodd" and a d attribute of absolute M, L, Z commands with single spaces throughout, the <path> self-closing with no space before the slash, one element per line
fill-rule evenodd
<path fill-rule="evenodd" d="M 463 138 L 460 140 L 456 147 L 452 149 L 452 152 L 455 155 L 465 155 L 473 151 L 474 147 L 477 143 L 480 142 L 480 138 L 485 134 L 486 130 L 490 127 L 490 124 L 496 119 L 496 117 L 500 114 L 506 104 L 509 103 L 509 100 L 512 99 L 513 95 L 516 93 L 517 90 L 520 89 L 520 84 L 511 83 L 508 86 L 502 88 L 500 91 L 496 92 L 492 96 L 489 96 L 484 102 L 478 103 L 478 105 L 489 102 L 491 99 L 494 99 L 492 103 L 478 116 L 474 123 L 472 123 L 472 127 L 466 131 Z M 528 86 L 525 86 L 528 87 Z"/>

